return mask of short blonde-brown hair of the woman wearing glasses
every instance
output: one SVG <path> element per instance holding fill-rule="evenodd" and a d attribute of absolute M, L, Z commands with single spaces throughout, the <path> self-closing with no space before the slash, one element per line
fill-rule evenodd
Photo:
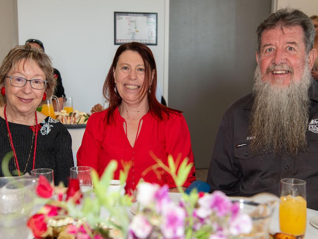
<path fill-rule="evenodd" d="M 3 84 L 5 76 L 8 74 L 8 72 L 12 68 L 17 67 L 22 61 L 24 61 L 24 63 L 26 61 L 32 61 L 38 64 L 39 68 L 45 74 L 45 80 L 47 81 L 45 89 L 47 98 L 51 98 L 56 86 L 56 79 L 53 76 L 52 62 L 49 56 L 44 53 L 44 51 L 29 45 L 15 46 L 9 51 L 8 55 L 4 58 L 0 66 L 0 85 Z M 6 97 L 2 95 L 1 97 L 5 102 Z"/>

